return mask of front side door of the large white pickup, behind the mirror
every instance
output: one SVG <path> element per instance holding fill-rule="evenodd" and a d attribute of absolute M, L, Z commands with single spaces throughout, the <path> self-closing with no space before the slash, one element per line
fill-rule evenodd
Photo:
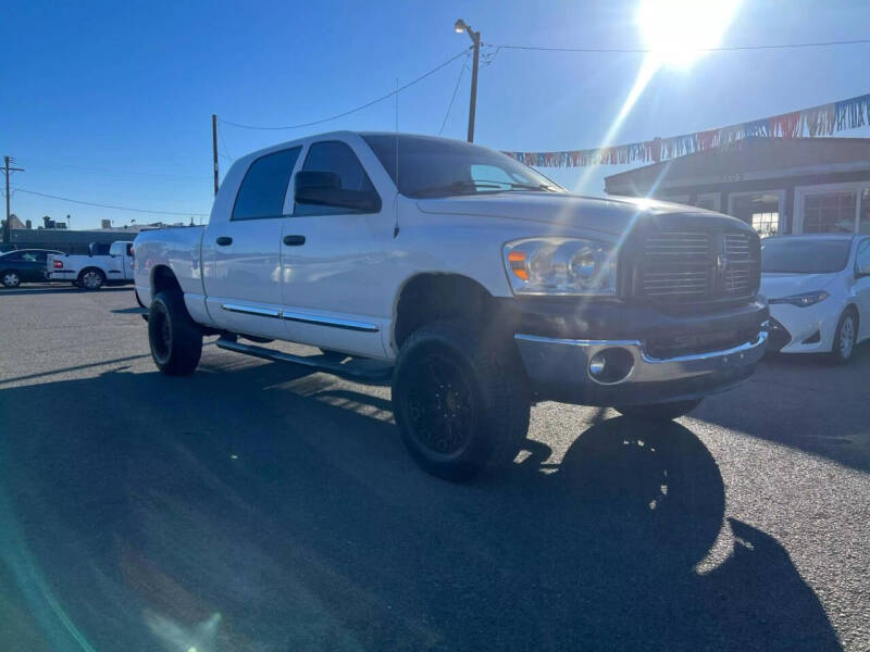
<path fill-rule="evenodd" d="M 283 220 L 286 337 L 322 349 L 383 356 L 381 331 L 389 325 L 395 276 L 388 269 L 393 196 L 378 193 L 344 140 L 313 142 L 299 173 L 332 179 L 345 195 L 371 202 L 363 209 L 295 202 L 293 215 Z"/>

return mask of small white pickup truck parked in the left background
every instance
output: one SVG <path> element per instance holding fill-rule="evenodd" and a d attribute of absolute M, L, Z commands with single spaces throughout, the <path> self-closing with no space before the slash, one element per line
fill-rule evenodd
<path fill-rule="evenodd" d="M 90 243 L 90 254 L 51 254 L 46 274 L 50 280 L 70 280 L 84 290 L 99 290 L 105 285 L 133 283 L 133 242 L 112 242 L 109 253 L 97 254 L 98 244 Z"/>

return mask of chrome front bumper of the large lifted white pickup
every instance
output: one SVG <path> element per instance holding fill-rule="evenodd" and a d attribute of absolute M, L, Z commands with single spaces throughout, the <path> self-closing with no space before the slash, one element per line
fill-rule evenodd
<path fill-rule="evenodd" d="M 514 335 L 538 398 L 584 405 L 660 403 L 731 389 L 751 376 L 765 354 L 767 339 L 768 334 L 762 329 L 755 340 L 730 349 L 658 359 L 649 355 L 639 340 Z M 631 368 L 616 381 L 596 379 L 591 372 L 593 359 L 608 350 L 619 351 L 624 361 L 631 356 Z"/>

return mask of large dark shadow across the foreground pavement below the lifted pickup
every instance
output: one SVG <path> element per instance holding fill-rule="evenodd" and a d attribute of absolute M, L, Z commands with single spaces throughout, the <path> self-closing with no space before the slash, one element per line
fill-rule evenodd
<path fill-rule="evenodd" d="M 686 428 L 599 419 L 560 464 L 530 441 L 456 486 L 410 462 L 384 399 L 299 378 L 1 392 L 0 648 L 840 649 L 775 539 L 723 522 Z"/>

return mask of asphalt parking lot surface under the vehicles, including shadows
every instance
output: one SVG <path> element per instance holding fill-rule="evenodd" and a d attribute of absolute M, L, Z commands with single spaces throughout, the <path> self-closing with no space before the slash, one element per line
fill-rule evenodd
<path fill-rule="evenodd" d="M 419 471 L 389 391 L 207 346 L 127 288 L 0 290 L 0 649 L 870 650 L 870 347 L 689 417 L 545 403 Z"/>

